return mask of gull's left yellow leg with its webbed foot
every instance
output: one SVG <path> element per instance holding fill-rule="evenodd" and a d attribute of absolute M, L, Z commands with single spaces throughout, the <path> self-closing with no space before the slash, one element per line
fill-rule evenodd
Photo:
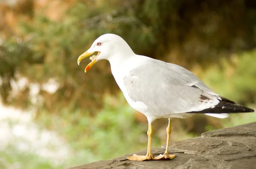
<path fill-rule="evenodd" d="M 134 154 L 131 157 L 128 157 L 128 160 L 131 161 L 144 161 L 144 160 L 151 160 L 153 159 L 153 155 L 151 153 L 151 141 L 153 136 L 153 127 L 151 123 L 148 123 L 148 150 L 146 155 L 137 155 Z"/>

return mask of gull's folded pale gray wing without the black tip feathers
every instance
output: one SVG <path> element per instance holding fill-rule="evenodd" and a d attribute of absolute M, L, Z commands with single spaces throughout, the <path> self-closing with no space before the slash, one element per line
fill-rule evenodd
<path fill-rule="evenodd" d="M 218 95 L 192 72 L 178 65 L 150 59 L 124 77 L 128 96 L 157 115 L 201 111 Z"/>

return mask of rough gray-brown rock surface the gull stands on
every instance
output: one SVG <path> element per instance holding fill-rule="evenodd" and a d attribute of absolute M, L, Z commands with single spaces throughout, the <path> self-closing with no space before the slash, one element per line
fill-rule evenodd
<path fill-rule="evenodd" d="M 97 161 L 70 169 L 256 169 L 256 122 L 211 132 L 201 137 L 169 144 L 172 160 L 128 161 L 128 154 L 109 161 Z M 154 156 L 165 146 L 153 148 Z M 145 155 L 146 150 L 133 154 Z"/>

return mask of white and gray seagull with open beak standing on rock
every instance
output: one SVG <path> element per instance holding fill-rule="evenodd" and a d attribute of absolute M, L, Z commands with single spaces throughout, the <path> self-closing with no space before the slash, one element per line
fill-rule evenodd
<path fill-rule="evenodd" d="M 93 55 L 98 52 L 97 55 Z M 207 87 L 195 74 L 172 63 L 134 54 L 122 37 L 104 34 L 81 54 L 77 63 L 93 55 L 86 66 L 87 72 L 96 62 L 107 59 L 117 85 L 122 90 L 128 104 L 143 113 L 148 119 L 148 149 L 146 155 L 128 157 L 131 161 L 173 159 L 169 155 L 168 144 L 171 134 L 171 118 L 186 118 L 203 113 L 216 118 L 226 118 L 228 113 L 253 112 L 253 109 L 236 104 Z M 168 118 L 166 129 L 166 150 L 153 157 L 151 139 L 152 122 L 157 118 Z"/>

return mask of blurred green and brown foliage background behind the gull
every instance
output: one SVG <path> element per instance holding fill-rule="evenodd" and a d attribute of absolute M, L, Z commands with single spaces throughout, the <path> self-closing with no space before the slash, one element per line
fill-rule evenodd
<path fill-rule="evenodd" d="M 77 58 L 102 34 L 181 65 L 213 91 L 256 108 L 255 0 L 0 0 L 0 168 L 62 169 L 147 146 L 147 120 L 108 61 Z M 153 123 L 152 146 L 167 119 Z M 173 119 L 171 141 L 256 121 L 256 113 Z"/>

